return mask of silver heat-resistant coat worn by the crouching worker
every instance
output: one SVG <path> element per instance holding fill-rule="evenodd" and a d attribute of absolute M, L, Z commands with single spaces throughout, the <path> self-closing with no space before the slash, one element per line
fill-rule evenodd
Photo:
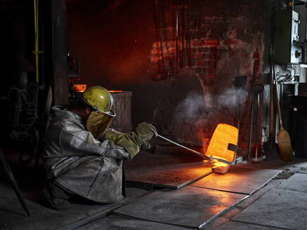
<path fill-rule="evenodd" d="M 112 203 L 124 198 L 122 165 L 129 158 L 111 140 L 95 140 L 81 116 L 53 107 L 44 152 L 49 180 L 92 201 Z"/>

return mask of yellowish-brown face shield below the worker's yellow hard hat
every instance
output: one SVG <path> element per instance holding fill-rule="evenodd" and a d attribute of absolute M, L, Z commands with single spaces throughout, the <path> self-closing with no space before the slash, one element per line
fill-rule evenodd
<path fill-rule="evenodd" d="M 86 121 L 86 128 L 91 132 L 93 137 L 99 140 L 109 128 L 113 117 L 107 114 L 100 114 L 98 111 L 92 111 Z"/>

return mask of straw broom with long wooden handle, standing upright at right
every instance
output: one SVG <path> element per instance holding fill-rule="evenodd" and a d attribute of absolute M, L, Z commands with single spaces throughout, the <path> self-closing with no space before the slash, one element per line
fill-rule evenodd
<path fill-rule="evenodd" d="M 278 149 L 280 149 L 280 158 L 282 161 L 292 161 L 293 160 L 293 150 L 291 146 L 290 135 L 287 130 L 282 126 L 282 114 L 280 112 L 280 100 L 278 99 L 277 91 L 277 81 L 275 76 L 275 65 L 273 64 L 273 77 L 275 81 L 275 95 L 276 95 L 276 104 L 278 109 L 279 121 L 280 121 L 280 130 L 277 133 L 277 144 Z"/>

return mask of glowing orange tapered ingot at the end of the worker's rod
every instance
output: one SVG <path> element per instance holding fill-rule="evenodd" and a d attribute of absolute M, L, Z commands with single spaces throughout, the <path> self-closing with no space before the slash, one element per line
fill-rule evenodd
<path fill-rule="evenodd" d="M 209 142 L 206 155 L 229 162 L 235 161 L 236 153 L 228 149 L 228 144 L 237 145 L 238 134 L 239 130 L 234 126 L 218 124 Z"/>

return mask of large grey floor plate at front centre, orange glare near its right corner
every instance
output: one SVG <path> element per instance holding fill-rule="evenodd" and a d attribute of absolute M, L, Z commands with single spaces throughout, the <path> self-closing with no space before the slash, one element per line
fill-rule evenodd
<path fill-rule="evenodd" d="M 192 186 L 162 189 L 115 210 L 141 219 L 198 227 L 245 196 Z"/>

